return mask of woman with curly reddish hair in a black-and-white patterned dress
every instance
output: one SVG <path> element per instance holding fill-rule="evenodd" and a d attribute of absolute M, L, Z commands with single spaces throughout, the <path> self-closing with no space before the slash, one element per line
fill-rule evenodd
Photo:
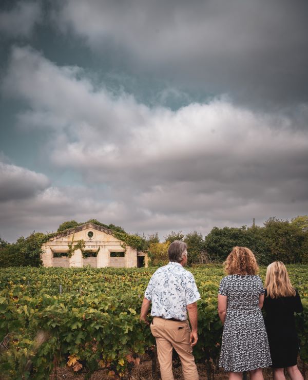
<path fill-rule="evenodd" d="M 230 380 L 249 371 L 251 380 L 262 380 L 262 368 L 272 364 L 261 308 L 262 280 L 251 250 L 236 246 L 225 263 L 227 276 L 220 282 L 218 314 L 224 324 L 219 367 Z"/>

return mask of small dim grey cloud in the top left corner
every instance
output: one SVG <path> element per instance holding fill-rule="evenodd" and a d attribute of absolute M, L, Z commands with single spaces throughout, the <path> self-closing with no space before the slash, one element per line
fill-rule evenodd
<path fill-rule="evenodd" d="M 11 10 L 0 13 L 0 32 L 9 37 L 29 37 L 42 17 L 40 3 L 20 1 Z"/>

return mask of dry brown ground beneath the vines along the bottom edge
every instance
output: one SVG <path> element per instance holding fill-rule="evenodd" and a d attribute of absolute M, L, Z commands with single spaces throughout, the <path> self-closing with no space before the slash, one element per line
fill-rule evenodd
<path fill-rule="evenodd" d="M 147 357 L 147 355 L 140 357 L 140 365 L 135 366 L 132 370 L 132 373 L 130 377 L 122 377 L 122 379 L 126 380 L 158 380 L 160 379 L 160 371 L 159 371 L 159 365 L 157 365 L 157 375 L 152 376 L 151 369 L 152 369 L 152 362 Z M 211 374 L 210 378 L 207 377 L 206 373 L 206 367 L 203 364 L 198 364 L 198 373 L 200 380 L 227 380 L 228 374 L 225 373 L 222 370 L 216 370 L 214 373 Z M 298 360 L 298 367 L 301 371 L 301 373 L 304 376 L 305 380 L 308 380 L 308 365 L 303 364 L 302 360 Z M 273 373 L 271 369 L 264 369 L 263 370 L 263 376 L 264 380 L 273 380 Z M 181 366 L 179 368 L 174 369 L 174 377 L 177 380 L 184 380 Z M 288 375 L 285 373 L 286 379 L 290 379 Z M 72 372 L 72 370 L 68 367 L 64 368 L 56 368 L 53 373 L 50 376 L 50 380 L 84 380 L 83 374 L 75 374 Z M 107 370 L 100 370 L 98 372 L 95 372 L 91 378 L 91 380 L 111 380 L 115 379 L 115 377 L 108 376 Z M 247 374 L 247 379 L 249 379 L 249 374 Z"/>

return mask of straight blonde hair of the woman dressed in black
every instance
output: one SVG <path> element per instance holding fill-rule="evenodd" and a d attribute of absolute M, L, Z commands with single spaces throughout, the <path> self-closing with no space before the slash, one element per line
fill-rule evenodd
<path fill-rule="evenodd" d="M 265 277 L 265 288 L 267 290 L 267 297 L 279 298 L 295 296 L 295 289 L 291 284 L 283 262 L 274 261 L 268 265 Z"/>

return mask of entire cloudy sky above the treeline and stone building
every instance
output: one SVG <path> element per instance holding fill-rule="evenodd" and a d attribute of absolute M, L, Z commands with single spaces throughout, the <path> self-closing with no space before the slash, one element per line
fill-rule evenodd
<path fill-rule="evenodd" d="M 306 0 L 2 0 L 0 235 L 308 214 Z"/>

